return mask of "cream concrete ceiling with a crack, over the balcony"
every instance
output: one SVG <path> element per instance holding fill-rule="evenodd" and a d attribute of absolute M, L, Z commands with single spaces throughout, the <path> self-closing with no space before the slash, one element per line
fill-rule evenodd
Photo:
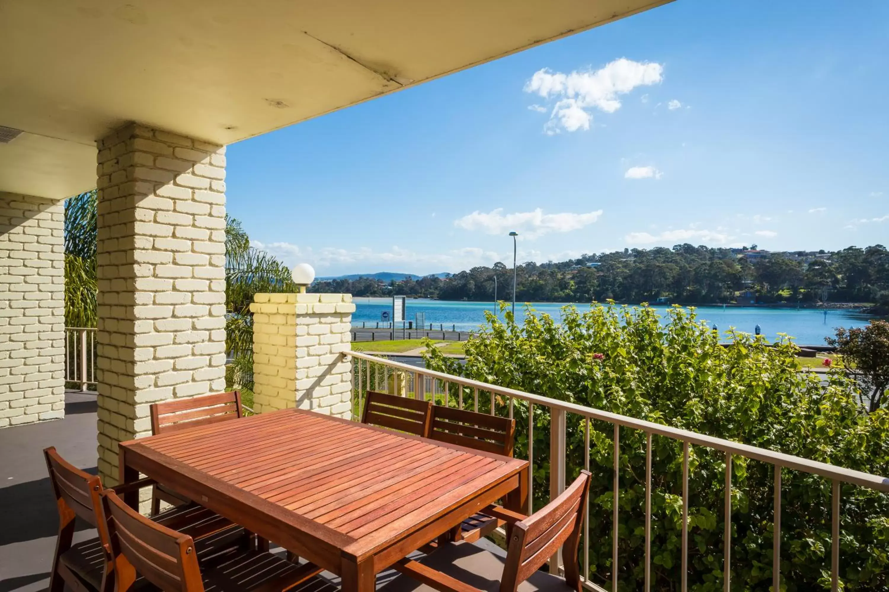
<path fill-rule="evenodd" d="M 136 121 L 219 144 L 669 0 L 0 0 L 0 191 L 95 183 Z"/>

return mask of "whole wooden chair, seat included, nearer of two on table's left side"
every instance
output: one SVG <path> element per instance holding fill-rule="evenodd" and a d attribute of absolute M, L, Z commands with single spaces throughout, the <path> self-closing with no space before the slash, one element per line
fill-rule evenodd
<path fill-rule="evenodd" d="M 315 564 L 292 564 L 267 551 L 229 549 L 200 565 L 188 534 L 148 520 L 112 491 L 102 501 L 115 561 L 115 592 L 127 592 L 138 575 L 165 592 L 274 592 L 300 584 L 316 592 L 329 586 L 315 577 L 322 571 Z"/>

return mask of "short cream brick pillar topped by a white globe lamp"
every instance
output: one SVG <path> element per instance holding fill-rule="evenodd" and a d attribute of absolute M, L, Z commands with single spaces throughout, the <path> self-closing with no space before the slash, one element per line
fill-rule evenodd
<path fill-rule="evenodd" d="M 257 294 L 253 313 L 253 405 L 299 407 L 351 418 L 351 294 Z"/>

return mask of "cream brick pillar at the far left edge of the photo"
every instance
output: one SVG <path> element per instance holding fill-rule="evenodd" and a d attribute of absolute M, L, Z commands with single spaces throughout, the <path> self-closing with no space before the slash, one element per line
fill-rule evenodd
<path fill-rule="evenodd" d="M 0 193 L 0 428 L 65 415 L 65 207 Z"/>

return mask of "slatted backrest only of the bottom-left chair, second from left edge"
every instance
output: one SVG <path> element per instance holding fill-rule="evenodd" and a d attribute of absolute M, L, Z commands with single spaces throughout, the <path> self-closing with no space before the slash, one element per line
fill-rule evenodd
<path fill-rule="evenodd" d="M 195 542 L 191 537 L 148 520 L 127 506 L 108 490 L 105 501 L 108 536 L 111 549 L 121 561 L 132 566 L 146 580 L 166 591 L 203 592 L 200 578 L 187 578 L 187 573 L 199 573 Z M 192 564 L 193 563 L 193 564 Z M 118 577 L 129 569 L 119 566 Z M 129 582 L 118 580 L 118 588 Z"/>

